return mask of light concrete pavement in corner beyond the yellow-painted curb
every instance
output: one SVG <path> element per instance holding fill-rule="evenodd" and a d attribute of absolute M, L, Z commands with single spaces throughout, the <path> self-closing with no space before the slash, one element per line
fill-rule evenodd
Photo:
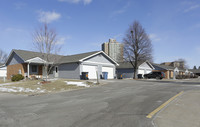
<path fill-rule="evenodd" d="M 188 91 L 154 119 L 156 127 L 200 127 L 200 91 Z"/>

